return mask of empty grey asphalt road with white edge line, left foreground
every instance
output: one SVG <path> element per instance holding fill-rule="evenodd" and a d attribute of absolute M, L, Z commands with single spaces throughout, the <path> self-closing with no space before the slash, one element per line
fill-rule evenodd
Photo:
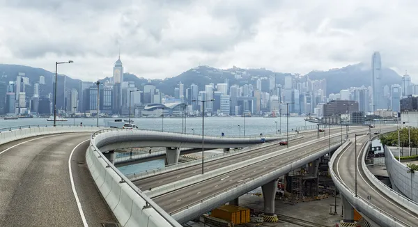
<path fill-rule="evenodd" d="M 36 136 L 0 146 L 0 226 L 84 225 L 70 183 L 68 159 L 89 135 Z M 115 219 L 82 164 L 86 146 L 88 142 L 74 150 L 71 173 L 86 224 L 101 226 Z"/>

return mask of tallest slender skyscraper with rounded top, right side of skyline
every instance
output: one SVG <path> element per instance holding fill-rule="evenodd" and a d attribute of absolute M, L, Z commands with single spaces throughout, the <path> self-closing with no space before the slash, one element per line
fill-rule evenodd
<path fill-rule="evenodd" d="M 382 62 L 380 61 L 380 53 L 374 52 L 371 56 L 371 95 L 372 111 L 382 108 L 382 82 L 380 77 L 380 69 Z"/>

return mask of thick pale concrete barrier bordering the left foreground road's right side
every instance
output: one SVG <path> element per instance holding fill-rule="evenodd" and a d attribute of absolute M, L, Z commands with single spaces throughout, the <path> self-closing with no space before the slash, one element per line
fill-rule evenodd
<path fill-rule="evenodd" d="M 113 134 L 114 132 L 109 132 Z M 86 164 L 95 185 L 121 226 L 176 226 L 172 217 L 128 180 L 107 160 L 96 144 L 109 139 L 107 133 L 95 133 L 86 150 Z M 116 135 L 117 137 L 117 135 Z"/>

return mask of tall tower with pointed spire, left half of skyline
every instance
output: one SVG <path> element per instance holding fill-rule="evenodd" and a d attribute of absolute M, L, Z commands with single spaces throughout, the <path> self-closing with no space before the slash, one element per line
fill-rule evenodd
<path fill-rule="evenodd" d="M 121 49 L 119 49 L 118 61 L 114 64 L 113 69 L 113 111 L 114 114 L 121 113 L 122 109 L 122 82 L 123 82 L 123 64 L 121 61 Z"/>

